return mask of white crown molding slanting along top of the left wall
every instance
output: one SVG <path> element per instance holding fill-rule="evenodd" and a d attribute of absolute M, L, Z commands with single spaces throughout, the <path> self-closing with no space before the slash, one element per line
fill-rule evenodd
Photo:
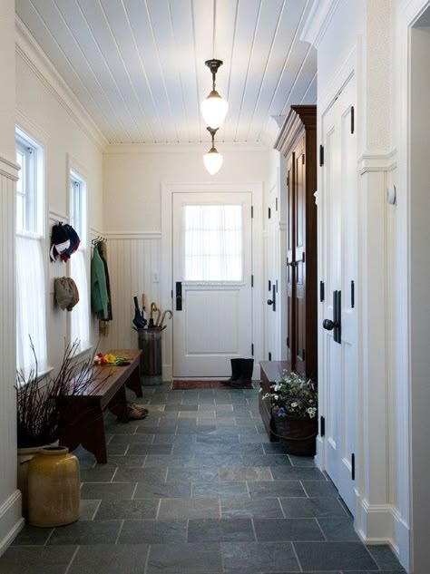
<path fill-rule="evenodd" d="M 15 51 L 34 72 L 36 77 L 51 92 L 57 102 L 73 118 L 74 122 L 103 151 L 107 138 L 76 98 L 63 77 L 57 72 L 42 48 L 34 39 L 24 22 L 15 15 Z"/>

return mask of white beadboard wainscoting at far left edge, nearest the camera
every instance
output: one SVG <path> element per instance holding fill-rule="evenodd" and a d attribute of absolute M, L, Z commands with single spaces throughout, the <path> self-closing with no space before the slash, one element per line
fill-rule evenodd
<path fill-rule="evenodd" d="M 0 157 L 0 554 L 24 525 L 16 489 L 15 181 L 18 166 Z"/>

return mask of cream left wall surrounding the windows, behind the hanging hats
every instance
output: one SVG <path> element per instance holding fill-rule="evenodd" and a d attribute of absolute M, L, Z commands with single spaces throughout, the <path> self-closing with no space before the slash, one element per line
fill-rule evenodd
<path fill-rule="evenodd" d="M 102 151 L 75 122 L 52 88 L 47 87 L 40 72 L 29 65 L 19 51 L 16 54 L 16 123 L 35 140 L 41 141 L 45 151 L 48 361 L 56 367 L 64 352 L 67 312 L 54 304 L 54 277 L 66 275 L 67 266 L 63 262 L 51 263 L 49 260 L 50 230 L 55 221 L 66 221 L 69 216 L 69 162 L 87 182 L 89 229 L 98 233 L 103 230 Z M 97 326 L 93 317 L 92 330 L 93 343 L 97 344 Z"/>

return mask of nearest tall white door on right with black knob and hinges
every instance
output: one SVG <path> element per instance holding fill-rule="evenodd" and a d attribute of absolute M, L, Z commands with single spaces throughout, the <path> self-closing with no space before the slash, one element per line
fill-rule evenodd
<path fill-rule="evenodd" d="M 350 79 L 323 114 L 324 145 L 321 205 L 323 225 L 319 353 L 320 405 L 326 425 L 326 469 L 356 514 L 354 470 L 357 446 L 357 136 L 352 128 L 355 82 Z M 333 327 L 333 323 L 335 324 Z M 340 323 L 340 328 L 337 326 Z"/>

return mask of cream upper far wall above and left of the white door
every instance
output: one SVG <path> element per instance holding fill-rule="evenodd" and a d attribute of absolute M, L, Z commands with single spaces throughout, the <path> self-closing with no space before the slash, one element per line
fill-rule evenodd
<path fill-rule="evenodd" d="M 219 145 L 220 172 L 210 176 L 202 156 L 208 146 L 109 146 L 103 156 L 103 216 L 106 232 L 161 231 L 161 182 L 269 180 L 269 153 Z"/>

